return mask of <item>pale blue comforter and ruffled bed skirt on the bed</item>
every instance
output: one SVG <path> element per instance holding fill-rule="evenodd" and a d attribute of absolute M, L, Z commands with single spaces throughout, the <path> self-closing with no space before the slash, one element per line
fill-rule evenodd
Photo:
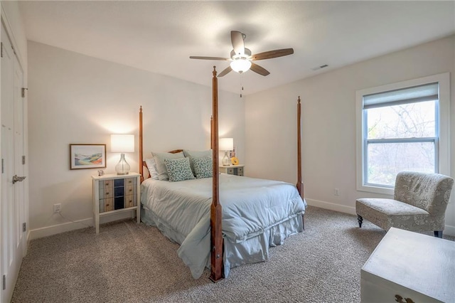
<path fill-rule="evenodd" d="M 194 278 L 210 265 L 212 179 L 141 184 L 142 220 L 181 244 L 178 255 Z M 306 203 L 282 181 L 220 174 L 225 277 L 230 267 L 267 260 L 268 247 L 303 230 Z"/>

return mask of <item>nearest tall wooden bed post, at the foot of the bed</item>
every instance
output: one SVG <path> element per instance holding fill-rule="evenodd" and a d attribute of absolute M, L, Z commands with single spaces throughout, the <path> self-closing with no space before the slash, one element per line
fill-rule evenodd
<path fill-rule="evenodd" d="M 218 282 L 223 279 L 223 235 L 221 233 L 220 180 L 218 173 L 218 78 L 213 66 L 213 122 L 212 122 L 212 156 L 213 156 L 213 201 L 210 207 L 210 280 Z"/>

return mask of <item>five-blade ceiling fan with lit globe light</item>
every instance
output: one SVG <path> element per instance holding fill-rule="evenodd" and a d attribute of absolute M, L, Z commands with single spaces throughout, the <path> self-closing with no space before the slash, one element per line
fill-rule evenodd
<path fill-rule="evenodd" d="M 255 55 L 251 54 L 251 50 L 245 48 L 244 40 L 247 37 L 245 33 L 240 33 L 240 31 L 231 31 L 230 32 L 230 41 L 232 43 L 232 50 L 230 51 L 230 58 L 220 58 L 220 57 L 203 57 L 191 55 L 190 59 L 203 59 L 203 60 L 226 60 L 231 61 L 230 66 L 225 68 L 218 77 L 223 77 L 231 70 L 234 70 L 237 73 L 245 73 L 247 70 L 252 70 L 259 75 L 269 75 L 269 71 L 262 66 L 252 63 L 255 60 L 264 60 L 282 57 L 284 55 L 291 55 L 294 53 L 293 48 L 283 48 L 280 50 L 269 50 L 264 53 L 257 53 Z"/>

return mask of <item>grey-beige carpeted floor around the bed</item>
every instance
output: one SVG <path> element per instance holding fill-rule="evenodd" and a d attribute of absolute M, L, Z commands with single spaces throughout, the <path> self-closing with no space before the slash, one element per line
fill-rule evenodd
<path fill-rule="evenodd" d="M 309 207 L 303 233 L 214 284 L 208 270 L 194 280 L 159 230 L 122 220 L 32 240 L 12 302 L 360 302 L 360 268 L 384 235 Z"/>

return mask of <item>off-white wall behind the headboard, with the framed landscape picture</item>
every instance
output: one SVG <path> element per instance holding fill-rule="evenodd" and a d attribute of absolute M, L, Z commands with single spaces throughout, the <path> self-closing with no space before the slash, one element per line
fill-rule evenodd
<path fill-rule="evenodd" d="M 97 169 L 70 170 L 69 144 L 107 144 L 105 172 L 113 173 L 119 154 L 109 152 L 109 134 L 135 134 L 136 152 L 126 156 L 138 171 L 140 105 L 145 156 L 210 148 L 212 70 L 208 86 L 196 85 L 33 41 L 28 63 L 32 238 L 92 225 L 90 176 Z M 219 93 L 219 103 L 220 137 L 233 137 L 245 159 L 244 103 L 228 92 Z M 53 214 L 54 203 L 62 203 L 66 219 Z"/>

